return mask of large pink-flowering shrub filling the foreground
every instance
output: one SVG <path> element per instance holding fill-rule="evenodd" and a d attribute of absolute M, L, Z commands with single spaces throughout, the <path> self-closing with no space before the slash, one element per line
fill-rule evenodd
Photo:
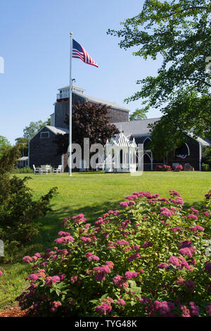
<path fill-rule="evenodd" d="M 185 211 L 174 190 L 170 199 L 126 199 L 94 225 L 83 214 L 65 218 L 52 249 L 23 258 L 32 273 L 21 308 L 37 316 L 210 315 L 211 191 L 200 210 Z"/>

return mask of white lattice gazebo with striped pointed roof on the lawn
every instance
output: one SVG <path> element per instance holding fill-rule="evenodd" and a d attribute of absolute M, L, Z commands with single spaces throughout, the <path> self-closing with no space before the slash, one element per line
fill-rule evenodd
<path fill-rule="evenodd" d="M 136 172 L 136 151 L 138 147 L 135 139 L 127 139 L 122 132 L 107 140 L 105 146 L 106 173 L 134 173 Z"/>

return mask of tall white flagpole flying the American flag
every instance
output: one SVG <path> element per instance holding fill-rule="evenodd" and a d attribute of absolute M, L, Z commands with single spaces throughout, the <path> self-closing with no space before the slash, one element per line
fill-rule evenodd
<path fill-rule="evenodd" d="M 72 32 L 70 32 L 70 87 L 69 87 L 69 176 L 72 176 Z"/>

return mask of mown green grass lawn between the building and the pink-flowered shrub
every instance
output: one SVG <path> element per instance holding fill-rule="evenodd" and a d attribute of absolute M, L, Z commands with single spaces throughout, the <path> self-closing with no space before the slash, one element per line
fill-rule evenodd
<path fill-rule="evenodd" d="M 18 175 L 25 177 L 25 175 Z M 30 175 L 28 185 L 34 197 L 45 194 L 51 187 L 58 187 L 58 195 L 53 198 L 53 211 L 41 218 L 41 231 L 36 242 L 48 248 L 61 228 L 63 218 L 84 213 L 91 222 L 109 209 L 119 208 L 119 201 L 132 192 L 150 191 L 168 197 L 170 189 L 180 192 L 186 206 L 203 203 L 203 197 L 211 187 L 211 173 L 165 173 L 144 172 L 141 176 L 105 173 L 67 173 L 60 175 Z M 13 303 L 25 286 L 24 279 L 28 266 L 14 263 L 6 266 L 0 280 L 0 308 Z"/>

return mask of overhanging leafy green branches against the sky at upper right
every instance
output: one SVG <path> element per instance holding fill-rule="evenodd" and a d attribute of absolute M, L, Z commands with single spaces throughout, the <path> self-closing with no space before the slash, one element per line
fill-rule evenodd
<path fill-rule="evenodd" d="M 122 23 L 122 30 L 108 30 L 121 38 L 122 49 L 138 47 L 134 56 L 162 56 L 158 75 L 138 80 L 141 90 L 125 101 L 141 98 L 146 110 L 162 107 L 166 123 L 201 137 L 211 131 L 211 82 L 205 70 L 211 54 L 210 11 L 208 0 L 146 0 L 141 13 Z M 168 125 L 165 129 L 168 134 Z M 172 135 L 176 140 L 177 130 Z"/>

